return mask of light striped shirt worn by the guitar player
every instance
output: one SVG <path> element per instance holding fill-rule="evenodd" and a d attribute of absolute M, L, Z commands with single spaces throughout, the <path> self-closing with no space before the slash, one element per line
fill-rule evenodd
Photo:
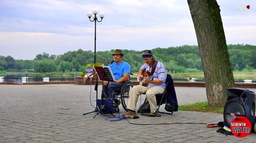
<path fill-rule="evenodd" d="M 143 65 L 140 67 L 140 69 L 141 69 L 142 71 L 145 69 L 146 72 L 149 72 L 149 73 L 150 73 L 151 70 L 152 70 L 152 67 L 149 68 L 149 65 L 145 63 L 145 64 L 143 64 Z M 153 73 L 153 76 L 154 76 L 154 79 L 153 79 L 153 80 L 159 79 L 159 80 L 163 81 L 164 83 L 158 84 L 158 85 L 150 84 L 150 83 L 149 83 L 148 86 L 161 86 L 161 87 L 165 88 L 165 86 L 166 86 L 166 85 L 165 85 L 166 75 L 167 75 L 167 73 L 166 73 L 164 64 L 163 64 L 162 62 L 158 61 L 157 65 L 156 65 L 156 69 L 155 69 L 155 71 L 154 71 L 154 73 Z"/>

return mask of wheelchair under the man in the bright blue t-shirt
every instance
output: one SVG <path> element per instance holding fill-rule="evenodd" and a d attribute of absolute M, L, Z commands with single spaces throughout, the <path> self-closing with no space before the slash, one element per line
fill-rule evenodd
<path fill-rule="evenodd" d="M 132 73 L 130 73 L 130 75 L 133 75 Z M 120 104 L 122 104 L 123 108 L 128 111 L 127 109 L 127 104 L 128 104 L 128 100 L 130 97 L 130 93 L 131 93 L 131 89 L 132 89 L 133 85 L 130 83 L 130 81 L 126 81 L 124 83 L 124 85 L 119 88 L 119 89 L 115 89 L 115 94 L 116 94 L 116 99 L 118 100 L 117 105 L 119 106 Z"/>

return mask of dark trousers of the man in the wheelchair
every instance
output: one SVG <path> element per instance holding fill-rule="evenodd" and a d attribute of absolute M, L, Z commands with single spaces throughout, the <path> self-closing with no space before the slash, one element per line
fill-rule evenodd
<path fill-rule="evenodd" d="M 111 82 L 107 86 L 103 85 L 104 95 L 107 95 L 108 98 L 115 99 L 116 98 L 115 89 L 121 88 L 123 86 L 123 84 L 124 83 Z M 113 95 L 113 97 L 112 97 L 112 95 Z M 105 98 L 105 96 L 104 96 L 104 98 Z"/>

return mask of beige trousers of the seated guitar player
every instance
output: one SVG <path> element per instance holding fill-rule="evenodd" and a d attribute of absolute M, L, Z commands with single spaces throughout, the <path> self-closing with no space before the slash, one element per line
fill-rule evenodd
<path fill-rule="evenodd" d="M 138 101 L 138 96 L 142 93 L 146 93 L 146 97 L 149 102 L 151 113 L 156 112 L 157 110 L 157 103 L 156 103 L 156 94 L 164 93 L 164 88 L 160 86 L 153 86 L 153 87 L 144 87 L 141 85 L 134 86 L 131 89 L 131 94 L 129 97 L 127 108 L 130 110 L 135 111 L 136 104 Z"/>

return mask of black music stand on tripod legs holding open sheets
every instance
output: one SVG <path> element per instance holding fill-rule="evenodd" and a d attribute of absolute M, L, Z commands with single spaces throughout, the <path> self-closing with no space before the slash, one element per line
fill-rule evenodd
<path fill-rule="evenodd" d="M 103 97 L 104 97 L 104 94 L 105 94 L 104 91 L 103 91 L 103 86 L 104 86 L 103 81 L 114 82 L 115 81 L 115 77 L 114 77 L 114 75 L 112 73 L 112 70 L 111 70 L 111 68 L 109 66 L 105 66 L 104 67 L 104 66 L 94 65 L 93 68 L 95 69 L 98 78 L 100 80 L 102 80 L 101 107 L 100 107 L 99 111 L 96 114 L 96 115 L 98 115 L 101 112 L 101 110 L 105 109 L 105 105 L 103 105 Z M 97 102 L 96 102 L 96 107 L 98 107 L 97 106 Z M 105 110 L 107 110 L 107 109 L 105 109 Z M 109 112 L 109 113 L 112 114 L 111 112 Z M 95 118 L 95 116 L 93 118 Z M 113 115 L 113 116 L 115 116 L 115 115 Z"/>

